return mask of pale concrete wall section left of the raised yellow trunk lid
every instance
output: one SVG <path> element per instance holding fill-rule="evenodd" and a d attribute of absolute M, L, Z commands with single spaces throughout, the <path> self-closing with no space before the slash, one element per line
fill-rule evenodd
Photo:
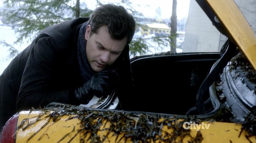
<path fill-rule="evenodd" d="M 220 32 L 195 0 L 190 1 L 183 52 L 218 51 Z"/>

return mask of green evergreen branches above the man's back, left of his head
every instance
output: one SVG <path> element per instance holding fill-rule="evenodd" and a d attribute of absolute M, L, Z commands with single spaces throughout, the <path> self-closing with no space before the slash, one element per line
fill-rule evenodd
<path fill-rule="evenodd" d="M 79 1 L 78 1 L 79 2 Z M 6 10 L 2 22 L 14 28 L 19 34 L 16 43 L 32 40 L 44 28 L 80 16 L 88 17 L 92 10 L 78 9 L 71 0 L 4 0 Z"/>

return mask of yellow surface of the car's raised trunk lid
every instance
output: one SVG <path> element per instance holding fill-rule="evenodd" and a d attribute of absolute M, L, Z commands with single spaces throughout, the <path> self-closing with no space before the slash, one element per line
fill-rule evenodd
<path fill-rule="evenodd" d="M 206 0 L 218 19 L 227 28 L 228 35 L 256 69 L 256 38 L 251 26 L 233 0 Z"/>

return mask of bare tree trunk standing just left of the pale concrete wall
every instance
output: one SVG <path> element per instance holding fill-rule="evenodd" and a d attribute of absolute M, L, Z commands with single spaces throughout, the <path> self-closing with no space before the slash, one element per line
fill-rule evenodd
<path fill-rule="evenodd" d="M 176 52 L 176 37 L 177 37 L 177 0 L 172 1 L 172 16 L 171 16 L 171 36 L 170 36 L 170 49 L 171 52 Z"/>

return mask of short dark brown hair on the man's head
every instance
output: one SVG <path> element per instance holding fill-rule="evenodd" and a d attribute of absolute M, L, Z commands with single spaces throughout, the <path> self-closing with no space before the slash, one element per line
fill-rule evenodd
<path fill-rule="evenodd" d="M 97 33 L 102 25 L 107 25 L 112 39 L 121 40 L 127 37 L 127 44 L 132 41 L 135 32 L 135 20 L 123 6 L 106 4 L 93 12 L 89 24 L 91 33 Z"/>

